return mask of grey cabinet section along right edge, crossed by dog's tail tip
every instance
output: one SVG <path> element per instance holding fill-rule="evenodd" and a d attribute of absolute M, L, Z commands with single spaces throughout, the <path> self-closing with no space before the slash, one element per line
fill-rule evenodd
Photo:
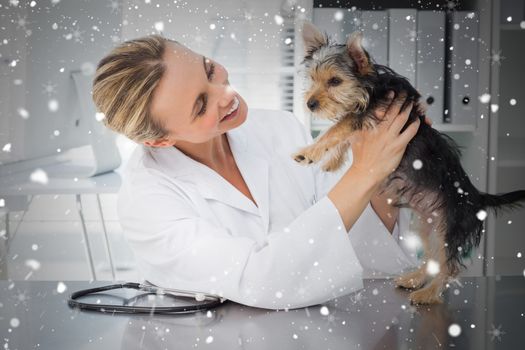
<path fill-rule="evenodd" d="M 525 189 L 525 2 L 492 2 L 489 182 L 491 193 Z M 525 209 L 489 217 L 487 274 L 525 274 Z"/>

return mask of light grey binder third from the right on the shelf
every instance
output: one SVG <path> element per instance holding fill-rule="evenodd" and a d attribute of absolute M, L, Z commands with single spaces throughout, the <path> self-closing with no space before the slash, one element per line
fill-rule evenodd
<path fill-rule="evenodd" d="M 390 9 L 388 65 L 416 85 L 417 10 Z"/>

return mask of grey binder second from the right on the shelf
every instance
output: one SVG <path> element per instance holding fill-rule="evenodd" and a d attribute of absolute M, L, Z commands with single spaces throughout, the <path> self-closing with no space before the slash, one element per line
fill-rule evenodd
<path fill-rule="evenodd" d="M 444 121 L 445 12 L 418 11 L 416 89 L 434 124 Z"/>

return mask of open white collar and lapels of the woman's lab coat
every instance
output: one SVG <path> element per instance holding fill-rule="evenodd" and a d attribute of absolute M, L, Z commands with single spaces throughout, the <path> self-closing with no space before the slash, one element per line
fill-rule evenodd
<path fill-rule="evenodd" d="M 246 124 L 246 122 L 245 122 Z M 207 199 L 226 203 L 248 213 L 259 215 L 264 232 L 269 227 L 269 165 L 268 161 L 247 150 L 245 125 L 226 133 L 230 148 L 244 181 L 257 206 L 215 170 L 185 155 L 176 147 L 149 148 L 153 158 L 169 176 L 195 184 L 199 193 Z"/>

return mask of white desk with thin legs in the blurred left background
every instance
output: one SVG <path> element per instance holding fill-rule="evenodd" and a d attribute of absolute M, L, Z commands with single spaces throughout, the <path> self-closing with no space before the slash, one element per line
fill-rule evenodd
<path fill-rule="evenodd" d="M 5 200 L 5 207 L 0 208 L 5 211 L 6 220 L 6 237 L 5 246 L 9 248 L 9 212 L 14 210 L 26 211 L 30 198 L 34 195 L 46 195 L 46 194 L 61 194 L 61 195 L 75 195 L 77 202 L 77 211 L 80 216 L 82 224 L 82 234 L 84 236 L 86 256 L 89 262 L 91 270 L 91 277 L 96 280 L 95 267 L 93 265 L 93 256 L 91 253 L 91 246 L 89 244 L 88 233 L 86 229 L 86 222 L 84 219 L 84 213 L 82 209 L 82 194 L 95 194 L 97 197 L 98 212 L 100 220 L 102 222 L 102 229 L 104 232 L 104 243 L 106 246 L 106 252 L 108 255 L 109 265 L 111 268 L 111 274 L 113 280 L 115 280 L 115 268 L 113 265 L 113 258 L 111 256 L 111 249 L 109 246 L 109 239 L 106 230 L 106 224 L 104 222 L 104 214 L 102 212 L 102 206 L 100 204 L 101 193 L 117 193 L 121 179 L 120 175 L 116 172 L 109 172 L 102 175 L 97 175 L 88 178 L 74 178 L 72 175 L 70 178 L 58 178 L 52 177 L 57 174 L 59 168 L 45 169 L 49 176 L 47 184 L 41 184 L 32 182 L 30 180 L 30 172 L 19 172 L 9 176 L 0 177 L 0 198 Z M 62 173 L 63 175 L 63 173 Z M 6 249 L 6 255 L 7 255 Z M 6 264 L 3 259 L 2 264 Z M 7 271 L 7 266 L 0 266 L 2 271 Z"/>

